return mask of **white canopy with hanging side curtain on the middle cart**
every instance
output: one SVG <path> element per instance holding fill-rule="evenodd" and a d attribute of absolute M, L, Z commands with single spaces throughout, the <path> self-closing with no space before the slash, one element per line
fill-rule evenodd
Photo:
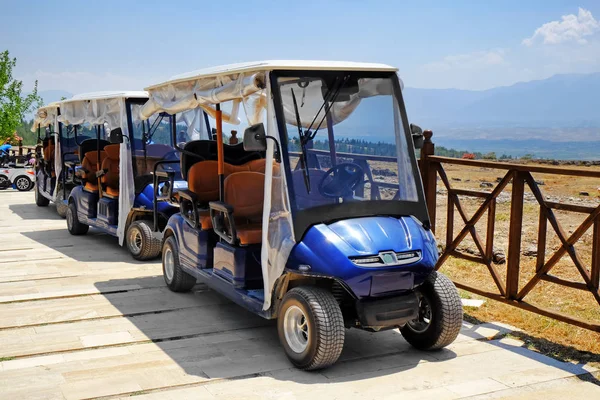
<path fill-rule="evenodd" d="M 148 93 L 143 91 L 95 92 L 73 96 L 60 102 L 61 115 L 58 120 L 65 125 L 108 124 L 110 130 L 121 128 L 123 135 L 131 137 L 127 124 L 127 99 L 147 99 Z M 139 115 L 132 114 L 134 121 Z M 125 239 L 125 223 L 127 214 L 133 207 L 135 189 L 133 166 L 131 164 L 131 144 L 128 140 L 121 143 L 119 160 L 119 223 L 117 237 L 123 245 Z"/>

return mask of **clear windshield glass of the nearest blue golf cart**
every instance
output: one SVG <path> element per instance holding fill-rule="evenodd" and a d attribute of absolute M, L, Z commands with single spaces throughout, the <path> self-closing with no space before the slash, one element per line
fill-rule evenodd
<path fill-rule="evenodd" d="M 417 202 L 417 170 L 392 78 L 321 73 L 279 77 L 298 210 L 330 204 Z"/>

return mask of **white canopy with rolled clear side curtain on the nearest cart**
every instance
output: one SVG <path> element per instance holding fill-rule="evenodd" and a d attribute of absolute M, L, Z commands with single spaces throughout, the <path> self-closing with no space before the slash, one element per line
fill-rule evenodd
<path fill-rule="evenodd" d="M 263 122 L 267 135 L 273 136 L 281 143 L 277 129 L 274 104 L 271 96 L 269 73 L 276 70 L 315 70 L 315 71 L 370 71 L 396 72 L 397 69 L 384 64 L 331 62 L 331 61 L 261 61 L 242 64 L 225 65 L 207 68 L 172 77 L 166 82 L 152 85 L 146 90 L 150 98 L 142 107 L 141 118 L 147 119 L 157 112 L 169 114 L 202 108 L 214 116 L 215 105 L 233 102 L 231 114 L 225 116 L 224 122 L 236 122 L 239 105 L 246 113 L 248 123 Z M 347 117 L 360 101 L 361 96 L 374 95 L 377 80 L 364 93 L 348 102 L 336 104 L 331 110 L 334 122 Z M 369 94 L 369 91 L 373 93 Z M 266 113 L 265 113 L 266 111 Z M 317 110 L 309 110 L 313 112 Z M 295 124 L 293 111 L 284 111 L 286 122 Z M 266 115 L 266 121 L 263 120 Z M 303 120 L 310 122 L 309 117 Z M 274 144 L 267 141 L 265 168 L 265 192 L 262 229 L 262 273 L 264 281 L 263 309 L 271 306 L 271 292 L 276 280 L 281 276 L 288 256 L 294 246 L 294 230 L 290 212 L 287 183 L 282 168 L 273 169 Z M 287 163 L 288 160 L 282 160 Z"/>

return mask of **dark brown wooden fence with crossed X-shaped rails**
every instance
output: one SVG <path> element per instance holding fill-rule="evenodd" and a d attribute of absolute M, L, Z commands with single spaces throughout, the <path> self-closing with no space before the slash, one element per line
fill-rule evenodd
<path fill-rule="evenodd" d="M 447 190 L 447 225 L 445 248 L 436 269 L 442 267 L 450 257 L 465 259 L 478 264 L 483 264 L 489 271 L 496 291 L 485 290 L 482 287 L 468 285 L 455 281 L 457 287 L 469 292 L 485 296 L 494 300 L 510 304 L 534 313 L 555 318 L 579 327 L 600 332 L 600 324 L 594 321 L 587 321 L 575 316 L 566 315 L 544 307 L 536 306 L 526 301 L 527 295 L 542 281 L 551 282 L 557 285 L 583 290 L 591 293 L 598 303 L 598 312 L 600 315 L 600 206 L 590 207 L 572 204 L 563 204 L 545 200 L 538 183 L 532 176 L 532 173 L 543 173 L 550 175 L 567 175 L 575 177 L 593 177 L 600 178 L 600 171 L 588 169 L 574 169 L 563 167 L 546 167 L 522 164 L 501 163 L 492 161 L 454 159 L 435 156 L 435 146 L 431 141 L 431 131 L 425 131 L 425 144 L 421 150 L 421 159 L 419 161 L 427 207 L 431 219 L 432 230 L 435 233 L 436 228 L 436 197 L 438 177 L 442 185 Z M 450 184 L 450 180 L 444 170 L 444 165 L 461 165 L 474 168 L 492 168 L 504 170 L 505 175 L 491 192 L 481 192 L 474 190 L 455 189 Z M 501 271 L 499 266 L 494 263 L 494 232 L 496 220 L 496 203 L 498 196 L 511 185 L 510 202 L 510 220 L 508 232 L 508 254 L 506 257 L 506 273 Z M 540 207 L 540 217 L 538 222 L 537 235 L 537 259 L 535 274 L 524 285 L 520 285 L 521 276 L 521 244 L 523 229 L 523 211 L 525 189 L 529 188 Z M 461 199 L 463 197 L 475 197 L 483 200 L 475 213 L 469 217 Z M 464 227 L 455 233 L 454 219 L 455 210 L 458 212 Z M 568 235 L 556 218 L 555 210 L 569 211 L 586 214 L 587 217 L 581 225 Z M 477 231 L 477 222 L 487 214 L 487 226 L 485 232 L 485 241 Z M 546 241 L 550 225 L 558 239 L 560 247 L 546 261 Z M 590 266 L 584 265 L 575 244 L 589 230 L 593 231 L 592 240 L 592 261 Z M 467 238 L 475 243 L 478 255 L 466 254 L 458 250 L 459 245 Z M 441 238 L 438 237 L 438 240 Z M 581 281 L 571 281 L 552 275 L 552 269 L 558 261 L 565 255 L 572 260 L 575 268 L 581 276 Z M 560 300 L 560 299 L 559 299 Z"/>

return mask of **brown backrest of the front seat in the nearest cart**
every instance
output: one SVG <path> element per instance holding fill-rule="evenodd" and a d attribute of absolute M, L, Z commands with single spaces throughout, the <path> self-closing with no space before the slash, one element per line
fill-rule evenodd
<path fill-rule="evenodd" d="M 265 174 L 260 172 L 236 172 L 225 179 L 225 202 L 233 206 L 235 218 L 252 222 L 262 220 Z"/>

